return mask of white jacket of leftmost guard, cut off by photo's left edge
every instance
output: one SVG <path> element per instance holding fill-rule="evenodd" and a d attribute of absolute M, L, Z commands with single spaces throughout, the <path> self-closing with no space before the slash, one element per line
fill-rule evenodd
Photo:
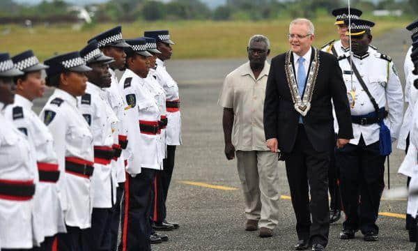
<path fill-rule="evenodd" d="M 36 165 L 25 135 L 3 114 L 0 102 L 0 184 L 34 185 Z M 0 193 L 1 248 L 32 248 L 33 199 Z"/>

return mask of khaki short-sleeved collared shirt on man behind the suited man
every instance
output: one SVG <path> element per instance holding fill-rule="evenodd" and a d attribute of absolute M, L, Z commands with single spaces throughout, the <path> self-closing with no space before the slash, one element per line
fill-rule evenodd
<path fill-rule="evenodd" d="M 265 143 L 263 109 L 270 64 L 265 61 L 258 79 L 249 61 L 229 73 L 218 104 L 234 112 L 232 144 L 237 151 L 268 151 Z"/>

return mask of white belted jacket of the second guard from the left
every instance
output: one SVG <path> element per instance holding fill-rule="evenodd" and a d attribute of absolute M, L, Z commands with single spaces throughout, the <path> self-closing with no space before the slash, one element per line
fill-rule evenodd
<path fill-rule="evenodd" d="M 24 132 L 33 147 L 40 180 L 36 184 L 34 209 L 40 218 L 38 222 L 41 224 L 42 235 L 48 237 L 66 231 L 59 188 L 56 185 L 60 173 L 54 151 L 54 139 L 47 126 L 32 111 L 32 106 L 30 100 L 16 94 L 15 102 L 6 107 L 5 114 L 17 129 Z"/>

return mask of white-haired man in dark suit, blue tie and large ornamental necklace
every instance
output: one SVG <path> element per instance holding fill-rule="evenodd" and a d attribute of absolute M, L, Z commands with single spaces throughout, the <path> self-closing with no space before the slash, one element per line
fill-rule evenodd
<path fill-rule="evenodd" d="M 286 162 L 299 238 L 295 249 L 306 250 L 310 241 L 312 250 L 324 250 L 330 230 L 332 101 L 340 127 L 339 148 L 353 138 L 350 107 L 336 58 L 311 46 L 311 21 L 293 20 L 288 38 L 291 50 L 272 59 L 265 91 L 265 139 L 270 151 L 279 148 Z"/>

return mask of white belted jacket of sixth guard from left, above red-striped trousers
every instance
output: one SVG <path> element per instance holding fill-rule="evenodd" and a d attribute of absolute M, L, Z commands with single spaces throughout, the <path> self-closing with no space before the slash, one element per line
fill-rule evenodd
<path fill-rule="evenodd" d="M 146 88 L 145 80 L 132 70 L 125 70 L 120 84 L 123 84 L 123 96 L 130 111 L 127 149 L 133 154 L 132 159 L 128 159 L 127 172 L 139 174 L 140 168 L 160 170 L 162 156 L 158 121 L 161 114 L 157 102 Z"/>

